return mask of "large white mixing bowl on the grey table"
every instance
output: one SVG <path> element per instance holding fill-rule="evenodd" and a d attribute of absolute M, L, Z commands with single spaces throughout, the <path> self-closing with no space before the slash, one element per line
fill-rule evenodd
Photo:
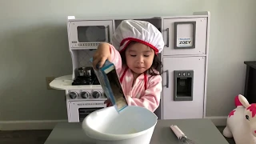
<path fill-rule="evenodd" d="M 141 106 L 127 106 L 118 114 L 114 106 L 90 113 L 82 129 L 96 144 L 149 144 L 158 117 Z"/>

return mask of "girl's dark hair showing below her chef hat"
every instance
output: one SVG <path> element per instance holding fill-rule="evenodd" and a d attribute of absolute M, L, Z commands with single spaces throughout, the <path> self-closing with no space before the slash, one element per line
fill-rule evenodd
<path fill-rule="evenodd" d="M 127 48 L 134 45 L 135 43 L 137 43 L 137 42 L 130 42 L 129 45 L 126 47 L 126 49 L 123 50 L 120 53 L 123 64 L 126 64 L 126 50 L 127 50 Z M 157 70 L 159 74 L 155 73 L 155 70 Z M 150 69 L 147 70 L 147 71 L 150 75 L 154 76 L 154 75 L 161 75 L 162 74 L 161 70 L 162 70 L 162 62 L 158 58 L 158 55 L 154 54 L 154 59 L 153 59 L 153 62 L 152 62 L 152 66 L 150 66 Z"/>

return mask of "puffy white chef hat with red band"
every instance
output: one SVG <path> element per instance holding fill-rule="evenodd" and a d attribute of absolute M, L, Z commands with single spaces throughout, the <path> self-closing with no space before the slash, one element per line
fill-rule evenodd
<path fill-rule="evenodd" d="M 150 22 L 123 20 L 112 37 L 113 46 L 121 52 L 132 41 L 150 46 L 155 54 L 161 53 L 164 47 L 161 32 Z"/>

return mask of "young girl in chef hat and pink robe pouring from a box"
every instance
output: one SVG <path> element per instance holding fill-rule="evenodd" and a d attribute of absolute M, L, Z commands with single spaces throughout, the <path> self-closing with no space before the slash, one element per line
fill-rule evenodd
<path fill-rule="evenodd" d="M 94 53 L 94 69 L 108 59 L 114 63 L 128 105 L 154 112 L 159 106 L 162 62 L 157 55 L 164 47 L 161 32 L 150 22 L 124 20 L 115 30 L 113 46 L 101 43 Z M 106 101 L 107 105 L 110 100 Z"/>

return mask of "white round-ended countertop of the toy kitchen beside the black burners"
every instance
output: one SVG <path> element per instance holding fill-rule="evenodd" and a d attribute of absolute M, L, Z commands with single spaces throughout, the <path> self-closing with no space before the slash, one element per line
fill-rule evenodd
<path fill-rule="evenodd" d="M 72 85 L 73 79 L 72 74 L 64 75 L 58 78 L 55 78 L 52 82 L 50 82 L 50 87 L 56 90 L 82 90 L 82 89 L 102 89 L 100 85 Z"/>

